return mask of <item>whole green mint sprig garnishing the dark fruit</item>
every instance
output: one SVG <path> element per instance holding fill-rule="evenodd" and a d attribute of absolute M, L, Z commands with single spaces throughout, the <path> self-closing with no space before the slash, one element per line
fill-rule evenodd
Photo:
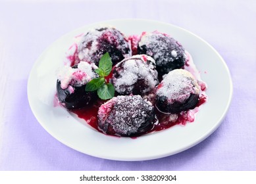
<path fill-rule="evenodd" d="M 95 70 L 99 78 L 89 81 L 86 85 L 86 91 L 96 91 L 100 99 L 112 99 L 115 95 L 115 87 L 112 83 L 107 83 L 105 77 L 109 76 L 112 70 L 112 61 L 109 53 L 105 53 L 99 60 L 99 68 Z"/>

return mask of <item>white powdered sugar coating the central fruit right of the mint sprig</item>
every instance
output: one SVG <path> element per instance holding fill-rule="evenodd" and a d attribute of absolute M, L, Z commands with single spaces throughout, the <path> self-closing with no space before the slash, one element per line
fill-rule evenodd
<path fill-rule="evenodd" d="M 147 93 L 159 83 L 155 60 L 147 55 L 126 58 L 116 64 L 112 81 L 116 91 L 126 95 L 133 93 L 138 82 L 143 81 L 140 92 Z"/>

